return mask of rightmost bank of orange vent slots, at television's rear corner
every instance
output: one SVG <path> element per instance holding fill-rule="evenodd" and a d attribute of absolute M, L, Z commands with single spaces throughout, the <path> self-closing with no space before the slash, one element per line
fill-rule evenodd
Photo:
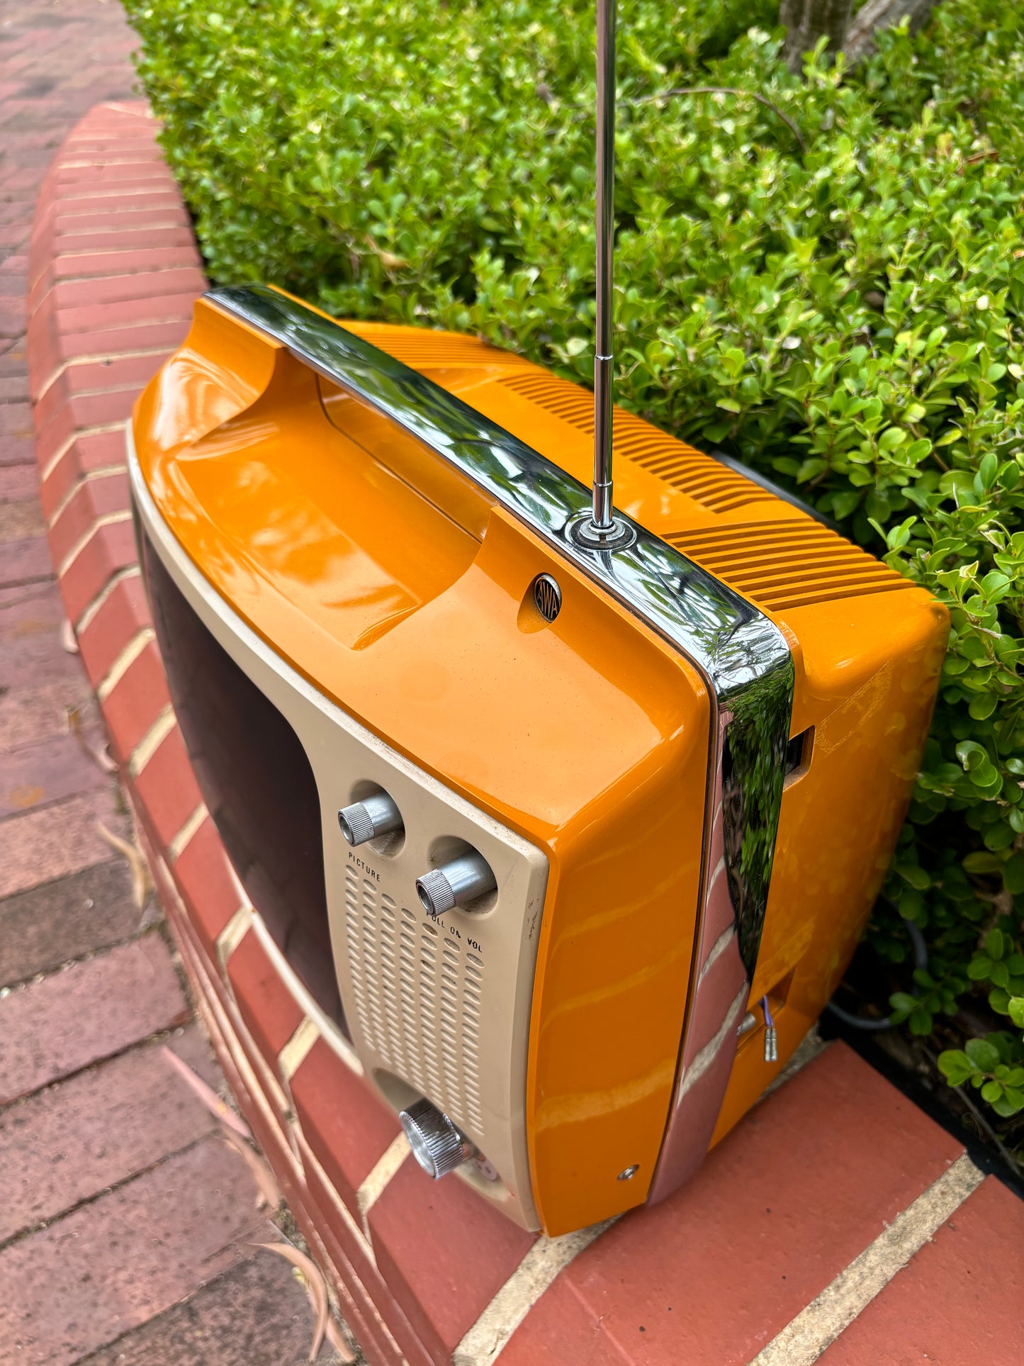
<path fill-rule="evenodd" d="M 670 531 L 665 540 L 770 612 L 913 587 L 872 555 L 810 518 Z"/>

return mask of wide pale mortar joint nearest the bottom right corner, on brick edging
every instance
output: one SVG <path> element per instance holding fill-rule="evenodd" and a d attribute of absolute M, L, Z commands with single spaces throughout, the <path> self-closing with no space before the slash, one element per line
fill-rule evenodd
<path fill-rule="evenodd" d="M 958 1157 L 748 1366 L 812 1366 L 983 1180 L 967 1154 Z"/>

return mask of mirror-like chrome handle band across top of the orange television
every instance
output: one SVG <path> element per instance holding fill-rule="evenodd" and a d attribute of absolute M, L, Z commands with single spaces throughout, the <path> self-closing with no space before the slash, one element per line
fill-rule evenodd
<path fill-rule="evenodd" d="M 591 497 L 579 479 L 333 320 L 266 285 L 214 288 L 206 298 L 418 437 L 696 665 L 718 710 L 729 713 L 726 743 L 713 762 L 724 770 L 725 861 L 752 974 L 793 697 L 793 661 L 776 623 L 629 518 L 631 545 L 580 546 L 571 523 L 588 515 Z"/>

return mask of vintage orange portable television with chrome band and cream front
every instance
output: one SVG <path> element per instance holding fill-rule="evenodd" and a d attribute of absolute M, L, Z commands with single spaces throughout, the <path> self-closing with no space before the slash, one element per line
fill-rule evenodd
<path fill-rule="evenodd" d="M 552 1235 L 674 1190 L 816 1019 L 948 630 L 620 411 L 612 508 L 598 146 L 597 400 L 216 288 L 130 443 L 177 719 L 283 977 L 431 1175 Z"/>

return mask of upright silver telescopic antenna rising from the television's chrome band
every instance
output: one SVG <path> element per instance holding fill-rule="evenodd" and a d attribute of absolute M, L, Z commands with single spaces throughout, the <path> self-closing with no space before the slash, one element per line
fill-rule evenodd
<path fill-rule="evenodd" d="M 594 336 L 594 501 L 572 529 L 590 549 L 628 545 L 634 533 L 612 508 L 612 260 L 616 171 L 616 0 L 597 0 L 597 328 Z"/>

